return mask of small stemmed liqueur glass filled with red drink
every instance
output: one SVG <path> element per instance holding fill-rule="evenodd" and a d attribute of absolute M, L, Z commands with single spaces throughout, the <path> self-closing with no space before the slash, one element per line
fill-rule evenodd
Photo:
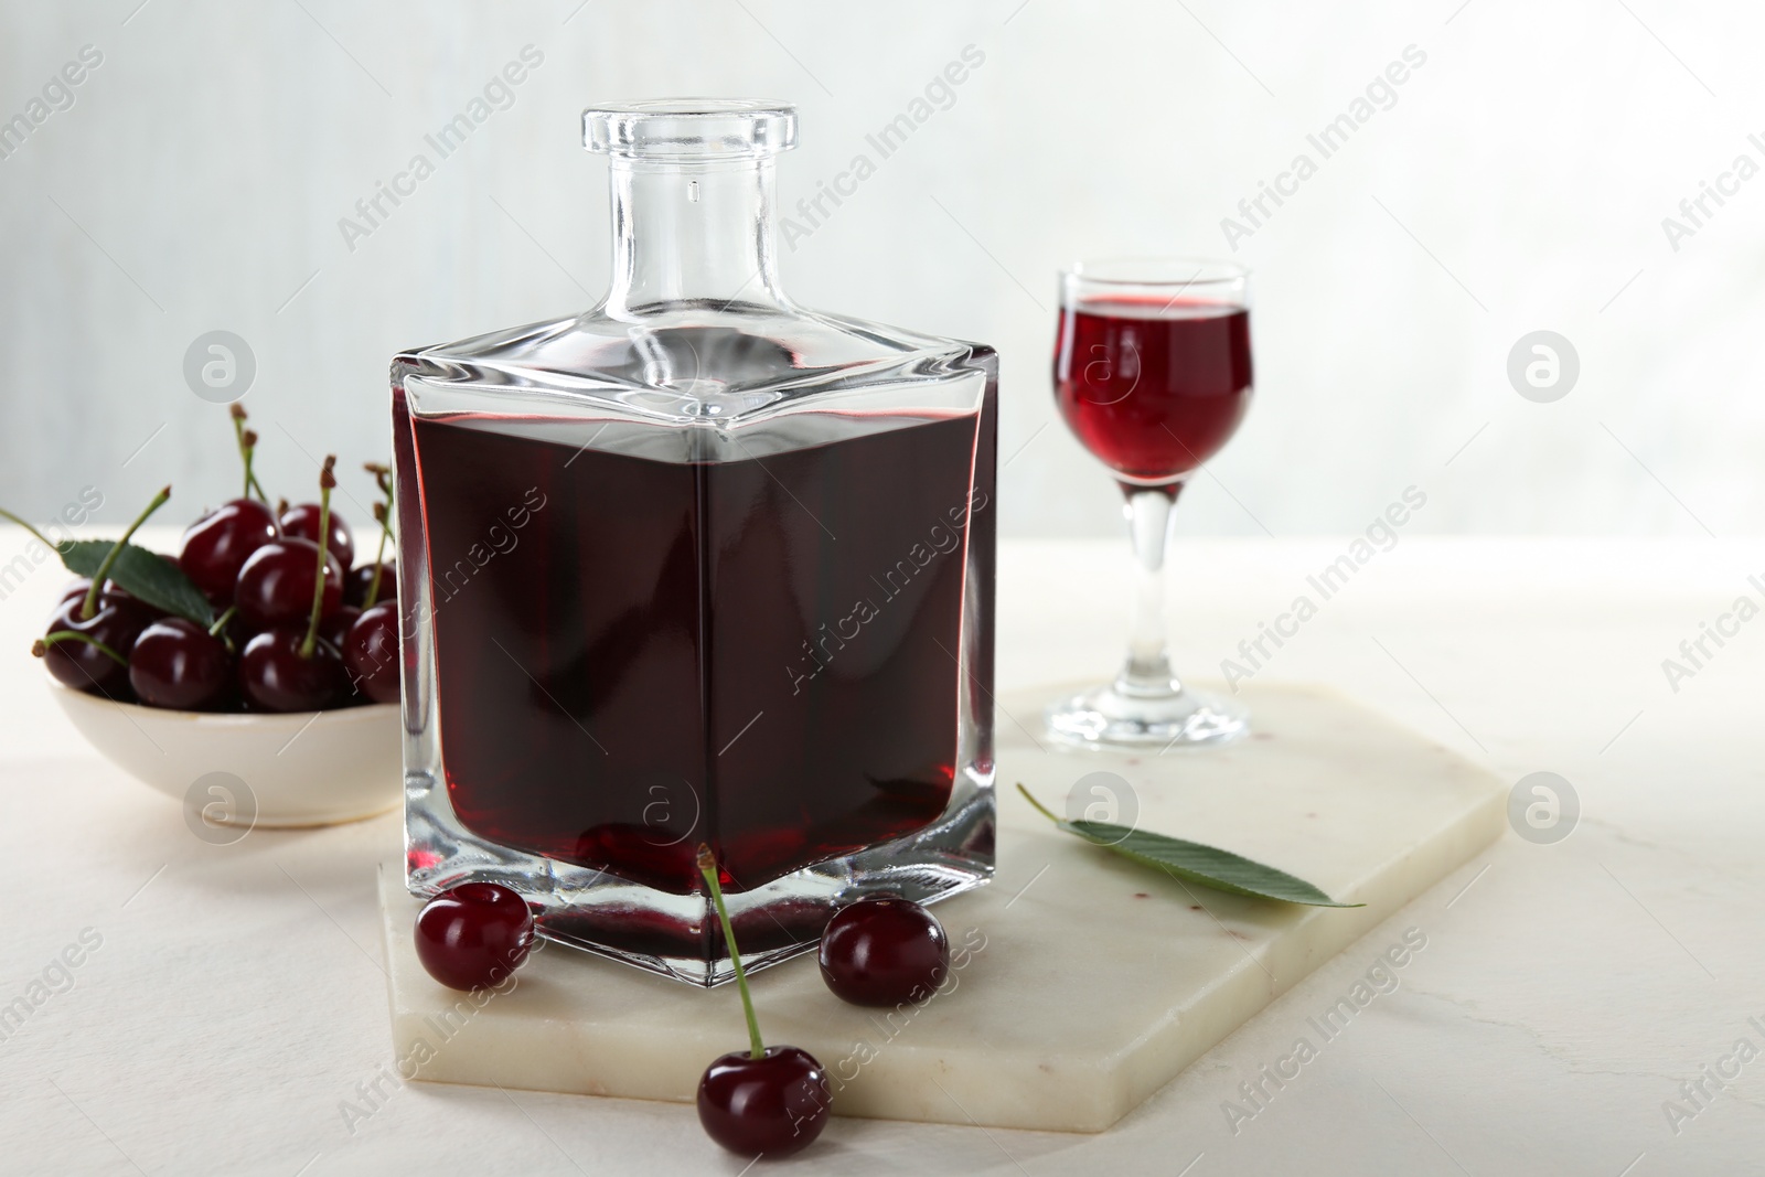
<path fill-rule="evenodd" d="M 1054 395 L 1121 485 L 1138 565 L 1128 662 L 1048 706 L 1068 746 L 1207 745 L 1248 729 L 1236 702 L 1184 686 L 1165 655 L 1165 545 L 1184 482 L 1250 406 L 1250 272 L 1191 258 L 1108 258 L 1061 274 Z"/>

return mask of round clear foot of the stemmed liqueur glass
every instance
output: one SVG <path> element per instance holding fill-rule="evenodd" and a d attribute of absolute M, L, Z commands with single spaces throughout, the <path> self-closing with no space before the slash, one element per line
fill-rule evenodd
<path fill-rule="evenodd" d="M 1114 752 L 1216 745 L 1250 731 L 1244 708 L 1188 686 L 1133 695 L 1107 683 L 1048 704 L 1043 716 L 1057 745 Z"/>

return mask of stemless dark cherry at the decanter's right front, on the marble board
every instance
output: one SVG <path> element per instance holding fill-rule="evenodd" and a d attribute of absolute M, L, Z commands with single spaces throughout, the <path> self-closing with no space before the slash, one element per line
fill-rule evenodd
<path fill-rule="evenodd" d="M 854 1006 L 921 1002 L 946 972 L 950 937 L 937 916 L 911 900 L 858 900 L 821 933 L 821 979 Z"/>

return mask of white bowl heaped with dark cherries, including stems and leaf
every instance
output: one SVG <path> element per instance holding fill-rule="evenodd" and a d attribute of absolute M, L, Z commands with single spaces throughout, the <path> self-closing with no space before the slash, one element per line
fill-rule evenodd
<path fill-rule="evenodd" d="M 316 503 L 272 508 L 244 422 L 233 406 L 244 494 L 196 519 L 176 554 L 131 542 L 171 487 L 118 540 L 37 535 L 79 579 L 32 653 L 94 748 L 205 821 L 381 813 L 402 792 L 397 572 L 385 563 L 392 475 L 367 464 L 383 496 L 379 552 L 357 566 L 353 533 L 330 506 L 335 459 Z M 212 783 L 235 805 L 210 805 Z"/>

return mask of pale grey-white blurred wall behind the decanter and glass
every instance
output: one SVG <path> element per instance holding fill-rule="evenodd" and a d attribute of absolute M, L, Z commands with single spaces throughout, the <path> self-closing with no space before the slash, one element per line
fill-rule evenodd
<path fill-rule="evenodd" d="M 1405 46 L 1426 65 L 1241 244 L 1258 388 L 1179 512 L 1191 533 L 1749 533 L 1765 176 L 1675 252 L 1661 219 L 1765 132 L 1740 4 L 1514 0 L 521 5 L 341 0 L 0 4 L 0 120 L 81 46 L 104 62 L 0 161 L 0 503 L 81 485 L 120 522 L 233 492 L 194 337 L 258 358 L 272 492 L 387 452 L 399 348 L 577 311 L 607 266 L 604 97 L 801 104 L 789 208 L 964 46 L 985 64 L 785 256 L 789 289 L 1003 356 L 1004 526 L 1108 535 L 1100 468 L 1054 418 L 1054 275 L 1073 256 L 1227 254 L 1221 217 Z M 337 221 L 526 44 L 544 65 L 357 242 Z M 1567 337 L 1580 381 L 1521 399 L 1507 353 Z M 145 443 L 145 448 L 141 448 Z M 1022 452 L 1018 454 L 1018 450 Z M 127 466 L 125 466 L 127 462 Z M 365 531 L 365 512 L 349 508 Z"/>

